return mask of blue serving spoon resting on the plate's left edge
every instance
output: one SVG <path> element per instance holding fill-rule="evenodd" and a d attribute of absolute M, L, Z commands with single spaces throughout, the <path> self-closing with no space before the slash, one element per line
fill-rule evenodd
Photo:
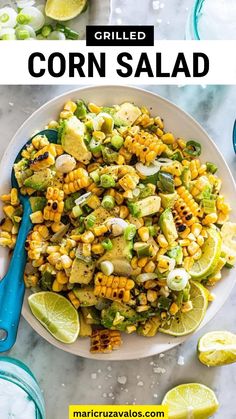
<path fill-rule="evenodd" d="M 46 135 L 50 143 L 57 143 L 57 131 L 48 129 L 39 132 L 37 135 Z M 21 159 L 22 150 L 31 141 L 32 138 L 21 149 L 15 159 L 15 163 Z M 16 341 L 25 292 L 23 279 L 27 259 L 25 241 L 32 227 L 30 200 L 28 196 L 20 193 L 14 170 L 12 170 L 11 174 L 11 184 L 13 188 L 18 189 L 19 199 L 23 207 L 23 216 L 8 272 L 0 281 L 0 352 L 11 349 Z"/>

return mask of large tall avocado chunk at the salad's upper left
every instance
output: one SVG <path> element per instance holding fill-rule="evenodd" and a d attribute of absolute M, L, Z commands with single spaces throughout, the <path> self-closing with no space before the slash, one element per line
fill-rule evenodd
<path fill-rule="evenodd" d="M 85 126 L 83 122 L 76 116 L 72 116 L 65 121 L 61 134 L 61 144 L 68 154 L 87 164 L 91 160 L 92 154 L 85 145 L 84 134 Z"/>

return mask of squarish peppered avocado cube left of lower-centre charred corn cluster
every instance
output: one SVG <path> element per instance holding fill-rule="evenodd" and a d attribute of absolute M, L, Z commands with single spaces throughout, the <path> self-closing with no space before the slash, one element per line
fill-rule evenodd
<path fill-rule="evenodd" d="M 75 258 L 73 261 L 70 280 L 71 284 L 89 284 L 93 278 L 95 264 Z"/>

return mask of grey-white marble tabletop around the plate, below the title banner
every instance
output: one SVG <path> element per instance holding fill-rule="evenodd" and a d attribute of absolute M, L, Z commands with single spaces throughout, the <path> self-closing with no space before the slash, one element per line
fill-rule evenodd
<path fill-rule="evenodd" d="M 215 139 L 236 177 L 236 159 L 231 143 L 236 87 L 146 88 L 190 112 Z M 71 87 L 0 86 L 0 155 L 15 130 L 35 109 L 69 89 Z M 235 291 L 200 335 L 221 329 L 235 332 Z M 35 373 L 44 392 L 48 419 L 66 419 L 69 403 L 158 403 L 171 387 L 195 381 L 216 391 L 221 408 L 215 418 L 234 419 L 236 365 L 213 369 L 201 365 L 196 357 L 198 338 L 199 333 L 163 356 L 108 363 L 75 357 L 50 346 L 22 319 L 16 345 L 9 355 L 24 361 Z M 178 365 L 179 356 L 184 357 L 182 366 Z M 125 377 L 126 383 L 120 384 L 118 377 Z"/>

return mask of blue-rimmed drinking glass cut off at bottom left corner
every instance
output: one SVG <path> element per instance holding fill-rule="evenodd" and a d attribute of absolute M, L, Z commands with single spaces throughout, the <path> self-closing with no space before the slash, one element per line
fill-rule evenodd
<path fill-rule="evenodd" d="M 30 419 L 46 419 L 42 392 L 36 378 L 22 362 L 13 358 L 0 357 L 0 385 L 2 385 L 0 392 L 1 415 L 3 415 L 3 409 L 6 411 L 7 409 L 16 409 L 18 403 L 20 409 L 22 405 L 24 405 L 24 409 L 29 408 L 31 413 L 28 417 Z M 9 390 L 10 392 L 7 393 Z M 26 417 L 24 412 L 23 417 Z"/>

